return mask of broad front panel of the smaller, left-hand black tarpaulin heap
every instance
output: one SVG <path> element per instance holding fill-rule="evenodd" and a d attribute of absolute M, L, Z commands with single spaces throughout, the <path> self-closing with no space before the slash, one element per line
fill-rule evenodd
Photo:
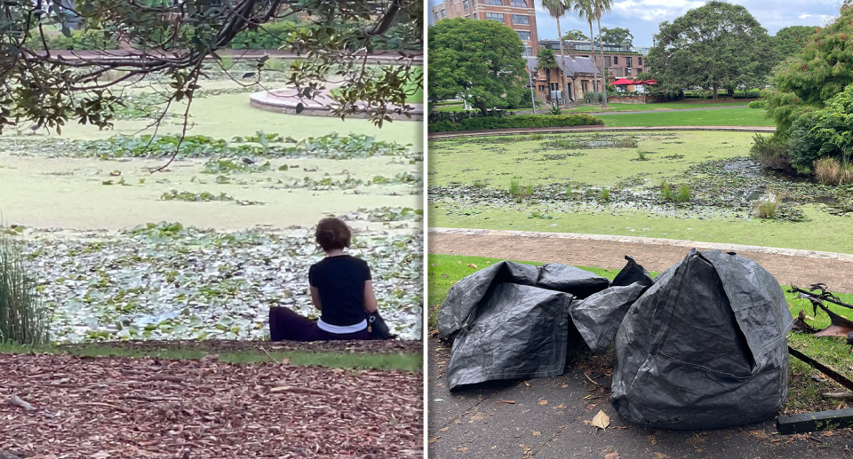
<path fill-rule="evenodd" d="M 453 341 L 447 382 L 562 375 L 569 338 L 571 295 L 501 282 Z"/>

